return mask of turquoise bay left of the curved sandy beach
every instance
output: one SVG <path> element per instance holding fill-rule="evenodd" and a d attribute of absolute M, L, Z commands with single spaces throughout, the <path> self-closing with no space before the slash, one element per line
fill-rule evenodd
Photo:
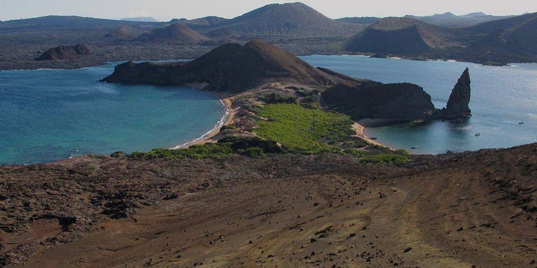
<path fill-rule="evenodd" d="M 0 71 L 0 165 L 174 147 L 226 113 L 193 88 L 97 81 L 113 69 Z"/>

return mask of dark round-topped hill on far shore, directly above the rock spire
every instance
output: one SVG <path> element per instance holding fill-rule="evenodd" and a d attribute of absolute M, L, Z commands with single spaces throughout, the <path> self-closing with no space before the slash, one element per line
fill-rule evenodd
<path fill-rule="evenodd" d="M 452 46 L 453 33 L 412 18 L 386 18 L 347 40 L 347 50 L 373 53 L 418 53 Z"/>

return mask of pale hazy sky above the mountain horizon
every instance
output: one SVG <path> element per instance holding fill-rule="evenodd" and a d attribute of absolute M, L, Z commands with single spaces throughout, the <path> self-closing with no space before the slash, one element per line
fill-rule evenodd
<path fill-rule="evenodd" d="M 154 17 L 194 19 L 205 16 L 234 18 L 261 6 L 292 1 L 271 0 L 0 0 L 0 20 L 34 18 L 47 15 L 121 19 Z M 329 18 L 402 17 L 452 12 L 481 11 L 492 15 L 537 12 L 535 0 L 302 0 Z"/>

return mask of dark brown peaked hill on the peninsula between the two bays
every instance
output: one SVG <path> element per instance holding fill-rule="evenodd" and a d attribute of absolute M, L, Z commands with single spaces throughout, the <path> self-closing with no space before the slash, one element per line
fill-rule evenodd
<path fill-rule="evenodd" d="M 206 84 L 205 90 L 241 92 L 272 82 L 331 86 L 357 79 L 314 68 L 285 50 L 262 40 L 244 46 L 224 44 L 194 61 L 175 64 L 127 62 L 116 66 L 109 83 L 160 85 Z"/>

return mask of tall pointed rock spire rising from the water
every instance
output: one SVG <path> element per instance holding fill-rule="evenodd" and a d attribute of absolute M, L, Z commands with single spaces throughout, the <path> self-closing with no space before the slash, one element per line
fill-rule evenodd
<path fill-rule="evenodd" d="M 438 110 L 434 117 L 445 120 L 470 117 L 471 110 L 468 107 L 470 103 L 470 90 L 470 73 L 468 68 L 466 68 L 457 81 L 457 84 L 453 87 L 446 108 Z"/>

